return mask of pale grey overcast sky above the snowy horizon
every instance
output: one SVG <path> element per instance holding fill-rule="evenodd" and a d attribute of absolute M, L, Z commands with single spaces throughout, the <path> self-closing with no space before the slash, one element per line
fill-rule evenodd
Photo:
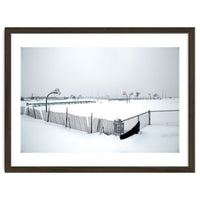
<path fill-rule="evenodd" d="M 21 48 L 21 95 L 179 96 L 179 48 Z"/>

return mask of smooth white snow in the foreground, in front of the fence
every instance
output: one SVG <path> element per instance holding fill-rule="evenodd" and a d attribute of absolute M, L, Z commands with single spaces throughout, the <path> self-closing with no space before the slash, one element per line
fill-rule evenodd
<path fill-rule="evenodd" d="M 125 140 L 22 115 L 22 153 L 178 153 L 178 126 L 150 125 Z"/>

